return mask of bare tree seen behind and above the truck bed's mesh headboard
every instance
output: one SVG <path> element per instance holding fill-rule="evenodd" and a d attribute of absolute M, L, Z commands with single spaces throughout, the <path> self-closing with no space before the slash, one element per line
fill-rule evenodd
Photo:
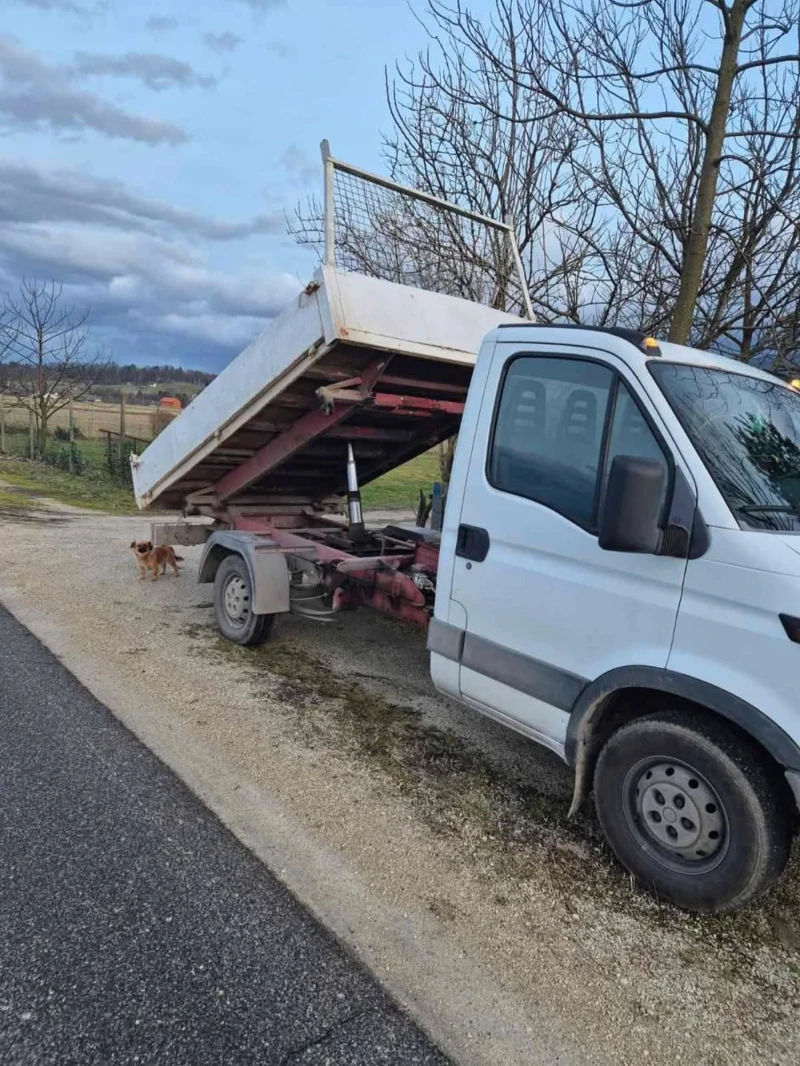
<path fill-rule="evenodd" d="M 513 222 L 537 318 L 546 321 L 569 307 L 577 321 L 579 300 L 598 273 L 596 249 L 609 254 L 596 209 L 571 168 L 580 131 L 454 35 L 431 33 L 441 47 L 432 45 L 417 62 L 398 67 L 394 81 L 387 78 L 395 131 L 384 149 L 391 177 Z M 513 26 L 502 44 L 513 68 Z M 350 190 L 337 195 L 336 214 L 337 261 L 343 269 L 522 310 L 508 248 L 480 224 L 402 196 L 363 199 Z M 562 225 L 557 228 L 554 220 Z M 289 230 L 300 243 L 321 248 L 322 208 L 316 198 L 297 209 Z M 603 303 L 599 289 L 595 285 Z"/>

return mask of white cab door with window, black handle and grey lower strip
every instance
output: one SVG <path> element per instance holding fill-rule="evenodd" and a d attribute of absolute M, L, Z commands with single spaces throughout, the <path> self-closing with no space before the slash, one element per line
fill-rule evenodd
<path fill-rule="evenodd" d="M 613 456 L 655 458 L 668 474 L 674 462 L 623 361 L 531 348 L 495 349 L 451 597 L 466 614 L 462 697 L 562 750 L 588 681 L 667 665 L 686 561 L 597 543 Z"/>

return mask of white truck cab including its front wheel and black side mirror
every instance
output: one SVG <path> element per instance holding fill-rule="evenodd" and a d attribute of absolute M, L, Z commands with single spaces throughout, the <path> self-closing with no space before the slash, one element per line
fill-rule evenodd
<path fill-rule="evenodd" d="M 628 330 L 485 339 L 431 672 L 556 752 L 661 898 L 732 909 L 800 800 L 800 393 Z"/>

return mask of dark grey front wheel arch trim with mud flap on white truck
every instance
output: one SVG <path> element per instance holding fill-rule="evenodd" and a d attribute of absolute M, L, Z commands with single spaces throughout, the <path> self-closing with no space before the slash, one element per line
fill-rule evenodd
<path fill-rule="evenodd" d="M 763 748 L 784 772 L 800 771 L 800 746 L 752 704 L 724 689 L 674 671 L 655 666 L 624 666 L 591 681 L 573 705 L 564 752 L 575 772 L 571 814 L 578 810 L 586 797 L 599 748 L 613 729 L 675 699 L 727 720 Z M 639 709 L 641 700 L 644 700 L 643 709 Z"/>

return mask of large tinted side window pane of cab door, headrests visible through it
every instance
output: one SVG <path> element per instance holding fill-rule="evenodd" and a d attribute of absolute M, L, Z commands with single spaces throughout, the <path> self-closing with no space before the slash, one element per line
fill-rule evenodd
<path fill-rule="evenodd" d="M 581 359 L 514 359 L 506 372 L 490 448 L 492 485 L 593 528 L 614 376 L 610 368 Z"/>

